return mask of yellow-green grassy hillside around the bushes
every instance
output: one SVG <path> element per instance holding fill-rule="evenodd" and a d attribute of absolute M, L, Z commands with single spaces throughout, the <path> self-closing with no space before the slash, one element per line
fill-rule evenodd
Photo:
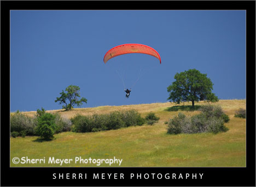
<path fill-rule="evenodd" d="M 197 106 L 208 104 L 196 103 Z M 91 115 L 109 113 L 113 110 L 136 109 L 142 116 L 154 112 L 160 117 L 155 125 L 132 126 L 119 130 L 75 133 L 62 132 L 55 135 L 53 141 L 38 141 L 38 137 L 18 137 L 10 139 L 10 159 L 28 156 L 30 159 L 44 159 L 45 163 L 14 164 L 11 167 L 60 167 L 60 164 L 48 163 L 49 157 L 55 159 L 73 159 L 63 163 L 62 167 L 98 167 L 96 164 L 75 163 L 75 157 L 82 159 L 123 159 L 121 165 L 112 167 L 245 167 L 246 166 L 246 120 L 235 118 L 238 108 L 246 108 L 246 100 L 221 100 L 218 103 L 229 115 L 225 124 L 229 131 L 218 133 L 168 135 L 165 121 L 181 112 L 176 104 L 152 103 L 130 106 L 104 106 L 80 108 L 65 112 L 52 110 L 66 118 L 75 114 Z M 185 103 L 189 106 L 191 103 Z M 182 106 L 182 105 L 179 105 Z M 179 109 L 179 110 L 177 110 Z M 177 110 L 177 111 L 176 111 Z M 49 111 L 48 111 L 49 112 Z M 199 111 L 182 111 L 194 115 Z M 24 112 L 34 115 L 36 112 Z M 109 167 L 102 163 L 100 167 Z"/>

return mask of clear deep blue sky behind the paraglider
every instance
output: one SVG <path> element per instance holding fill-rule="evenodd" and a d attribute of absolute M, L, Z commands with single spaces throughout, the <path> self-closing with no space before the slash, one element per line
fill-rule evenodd
<path fill-rule="evenodd" d="M 151 46 L 162 64 L 145 54 L 104 64 L 110 48 L 126 43 Z M 167 102 L 174 75 L 192 68 L 207 74 L 220 99 L 246 98 L 246 11 L 10 13 L 11 112 L 61 109 L 54 101 L 71 84 L 88 99 L 82 107 Z"/>

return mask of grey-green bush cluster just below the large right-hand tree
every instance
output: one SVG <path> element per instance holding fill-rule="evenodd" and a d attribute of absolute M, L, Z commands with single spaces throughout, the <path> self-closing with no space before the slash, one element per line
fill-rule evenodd
<path fill-rule="evenodd" d="M 168 122 L 167 133 L 177 135 L 179 133 L 202 133 L 202 132 L 226 132 L 228 127 L 224 122 L 229 121 L 219 106 L 203 106 L 200 108 L 201 113 L 194 116 L 185 116 L 179 113 Z"/>

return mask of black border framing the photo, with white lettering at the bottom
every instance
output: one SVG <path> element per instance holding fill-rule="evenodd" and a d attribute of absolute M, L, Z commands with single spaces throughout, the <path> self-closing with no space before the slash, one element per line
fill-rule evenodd
<path fill-rule="evenodd" d="M 246 10 L 247 167 L 10 168 L 10 10 Z M 1 1 L 1 90 L 1 186 L 255 186 L 255 1 Z M 53 173 L 88 177 L 53 179 Z M 127 178 L 92 179 L 93 173 L 124 173 Z M 203 178 L 129 179 L 130 173 L 203 173 Z"/>

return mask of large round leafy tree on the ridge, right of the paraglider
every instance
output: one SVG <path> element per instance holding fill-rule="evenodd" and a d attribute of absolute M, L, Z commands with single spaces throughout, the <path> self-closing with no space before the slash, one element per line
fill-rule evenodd
<path fill-rule="evenodd" d="M 196 69 L 189 69 L 181 73 L 176 73 L 174 81 L 167 87 L 169 97 L 167 100 L 174 103 L 192 102 L 194 108 L 195 101 L 217 102 L 218 97 L 212 93 L 213 83 L 207 74 L 202 74 Z"/>

